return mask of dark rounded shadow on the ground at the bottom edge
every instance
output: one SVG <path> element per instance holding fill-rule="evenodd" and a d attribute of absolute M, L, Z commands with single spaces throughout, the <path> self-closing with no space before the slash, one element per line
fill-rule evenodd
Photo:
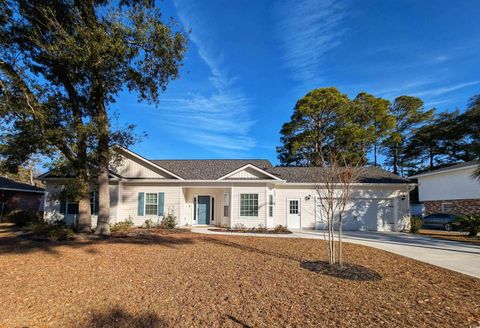
<path fill-rule="evenodd" d="M 160 328 L 168 327 L 165 319 L 154 312 L 139 314 L 128 313 L 120 307 L 108 311 L 95 311 L 86 322 L 78 324 L 78 328 Z"/>

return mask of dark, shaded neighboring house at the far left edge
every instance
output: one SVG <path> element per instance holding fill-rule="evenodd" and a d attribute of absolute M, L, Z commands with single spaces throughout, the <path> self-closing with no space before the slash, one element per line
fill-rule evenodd
<path fill-rule="evenodd" d="M 16 210 L 43 211 L 44 193 L 42 188 L 0 177 L 0 220 Z"/>

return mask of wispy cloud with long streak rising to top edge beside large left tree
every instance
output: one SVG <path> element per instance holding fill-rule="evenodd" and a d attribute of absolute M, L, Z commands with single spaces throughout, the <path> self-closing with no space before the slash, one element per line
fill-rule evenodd
<path fill-rule="evenodd" d="M 199 12 L 201 7 L 196 7 L 194 0 L 174 3 L 181 23 L 191 30 L 191 42 L 210 71 L 211 90 L 163 99 L 164 124 L 180 138 L 209 151 L 243 156 L 255 147 L 255 140 L 249 136 L 255 123 L 250 119 L 250 100 L 235 87 L 236 78 L 224 65 L 221 42 L 213 41 L 210 18 Z"/>

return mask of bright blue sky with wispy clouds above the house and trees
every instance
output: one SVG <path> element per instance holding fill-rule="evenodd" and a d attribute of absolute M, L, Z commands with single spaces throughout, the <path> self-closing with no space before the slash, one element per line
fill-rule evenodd
<path fill-rule="evenodd" d="M 480 1 L 164 0 L 190 43 L 156 108 L 123 93 L 150 159 L 266 158 L 308 91 L 335 86 L 441 111 L 480 93 Z"/>

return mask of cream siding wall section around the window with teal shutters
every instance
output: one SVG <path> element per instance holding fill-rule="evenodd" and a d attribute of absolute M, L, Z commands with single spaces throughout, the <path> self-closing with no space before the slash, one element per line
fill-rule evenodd
<path fill-rule="evenodd" d="M 180 207 L 181 194 L 180 186 L 161 185 L 161 184 L 128 184 L 122 183 L 120 193 L 120 203 L 118 208 L 118 217 L 116 222 L 125 221 L 130 219 L 135 226 L 141 226 L 145 223 L 145 220 L 150 219 L 153 223 L 159 223 L 161 217 L 158 215 L 138 215 L 138 193 L 164 193 L 164 214 L 168 214 L 169 211 L 173 211 L 174 215 L 178 218 L 182 217 Z M 178 222 L 182 224 L 181 222 Z"/>

